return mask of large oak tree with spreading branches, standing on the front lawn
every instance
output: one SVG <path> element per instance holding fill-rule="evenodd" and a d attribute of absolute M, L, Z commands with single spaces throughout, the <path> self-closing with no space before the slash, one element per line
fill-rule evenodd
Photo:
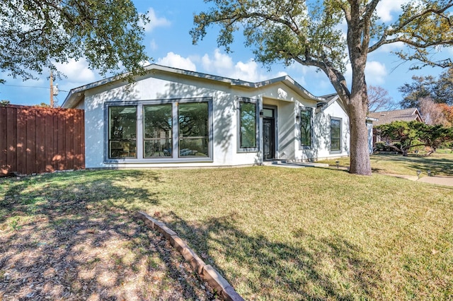
<path fill-rule="evenodd" d="M 408 1 L 394 23 L 377 16 L 380 0 L 205 0 L 210 10 L 194 17 L 193 42 L 202 40 L 211 25 L 219 26 L 217 42 L 226 50 L 234 32 L 243 29 L 246 45 L 257 61 L 315 66 L 328 76 L 350 117 L 350 172 L 370 175 L 365 118 L 368 110 L 365 66 L 379 47 L 401 42 L 396 52 L 419 66 L 452 66 L 449 58 L 432 60 L 438 47 L 453 45 L 453 0 Z M 345 30 L 341 30 L 342 27 Z M 346 64 L 352 83 L 345 81 Z"/>

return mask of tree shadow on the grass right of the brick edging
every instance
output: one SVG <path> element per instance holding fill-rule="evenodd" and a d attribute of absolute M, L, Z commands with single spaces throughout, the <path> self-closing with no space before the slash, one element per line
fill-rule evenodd
<path fill-rule="evenodd" d="M 273 242 L 236 229 L 235 216 L 188 225 L 170 213 L 170 227 L 185 237 L 205 262 L 234 286 L 246 300 L 357 300 L 373 296 L 380 273 L 362 258 L 360 247 L 343 237 L 321 240 L 303 230 L 292 242 Z M 202 238 L 200 238 L 202 237 Z M 211 254 L 211 256 L 210 256 Z M 222 258 L 222 266 L 213 258 Z"/>

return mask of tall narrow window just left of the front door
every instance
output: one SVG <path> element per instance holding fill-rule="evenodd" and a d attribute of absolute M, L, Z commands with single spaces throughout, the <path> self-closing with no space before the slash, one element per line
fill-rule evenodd
<path fill-rule="evenodd" d="M 256 151 L 258 131 L 256 116 L 256 102 L 239 101 L 239 149 L 241 151 Z"/>

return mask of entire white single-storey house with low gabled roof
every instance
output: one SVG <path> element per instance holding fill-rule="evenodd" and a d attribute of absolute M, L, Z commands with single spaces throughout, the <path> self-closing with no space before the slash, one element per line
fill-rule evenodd
<path fill-rule="evenodd" d="M 152 64 L 74 88 L 62 107 L 85 111 L 86 167 L 256 165 L 349 154 L 338 97 L 311 95 L 289 76 L 250 83 Z"/>

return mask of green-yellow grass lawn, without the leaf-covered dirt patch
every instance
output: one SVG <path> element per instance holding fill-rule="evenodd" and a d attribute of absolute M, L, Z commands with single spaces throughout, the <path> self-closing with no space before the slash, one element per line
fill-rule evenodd
<path fill-rule="evenodd" d="M 159 212 L 246 300 L 453 298 L 452 187 L 281 167 L 0 179 L 0 242 L 51 200 L 90 208 L 61 223 Z"/>

